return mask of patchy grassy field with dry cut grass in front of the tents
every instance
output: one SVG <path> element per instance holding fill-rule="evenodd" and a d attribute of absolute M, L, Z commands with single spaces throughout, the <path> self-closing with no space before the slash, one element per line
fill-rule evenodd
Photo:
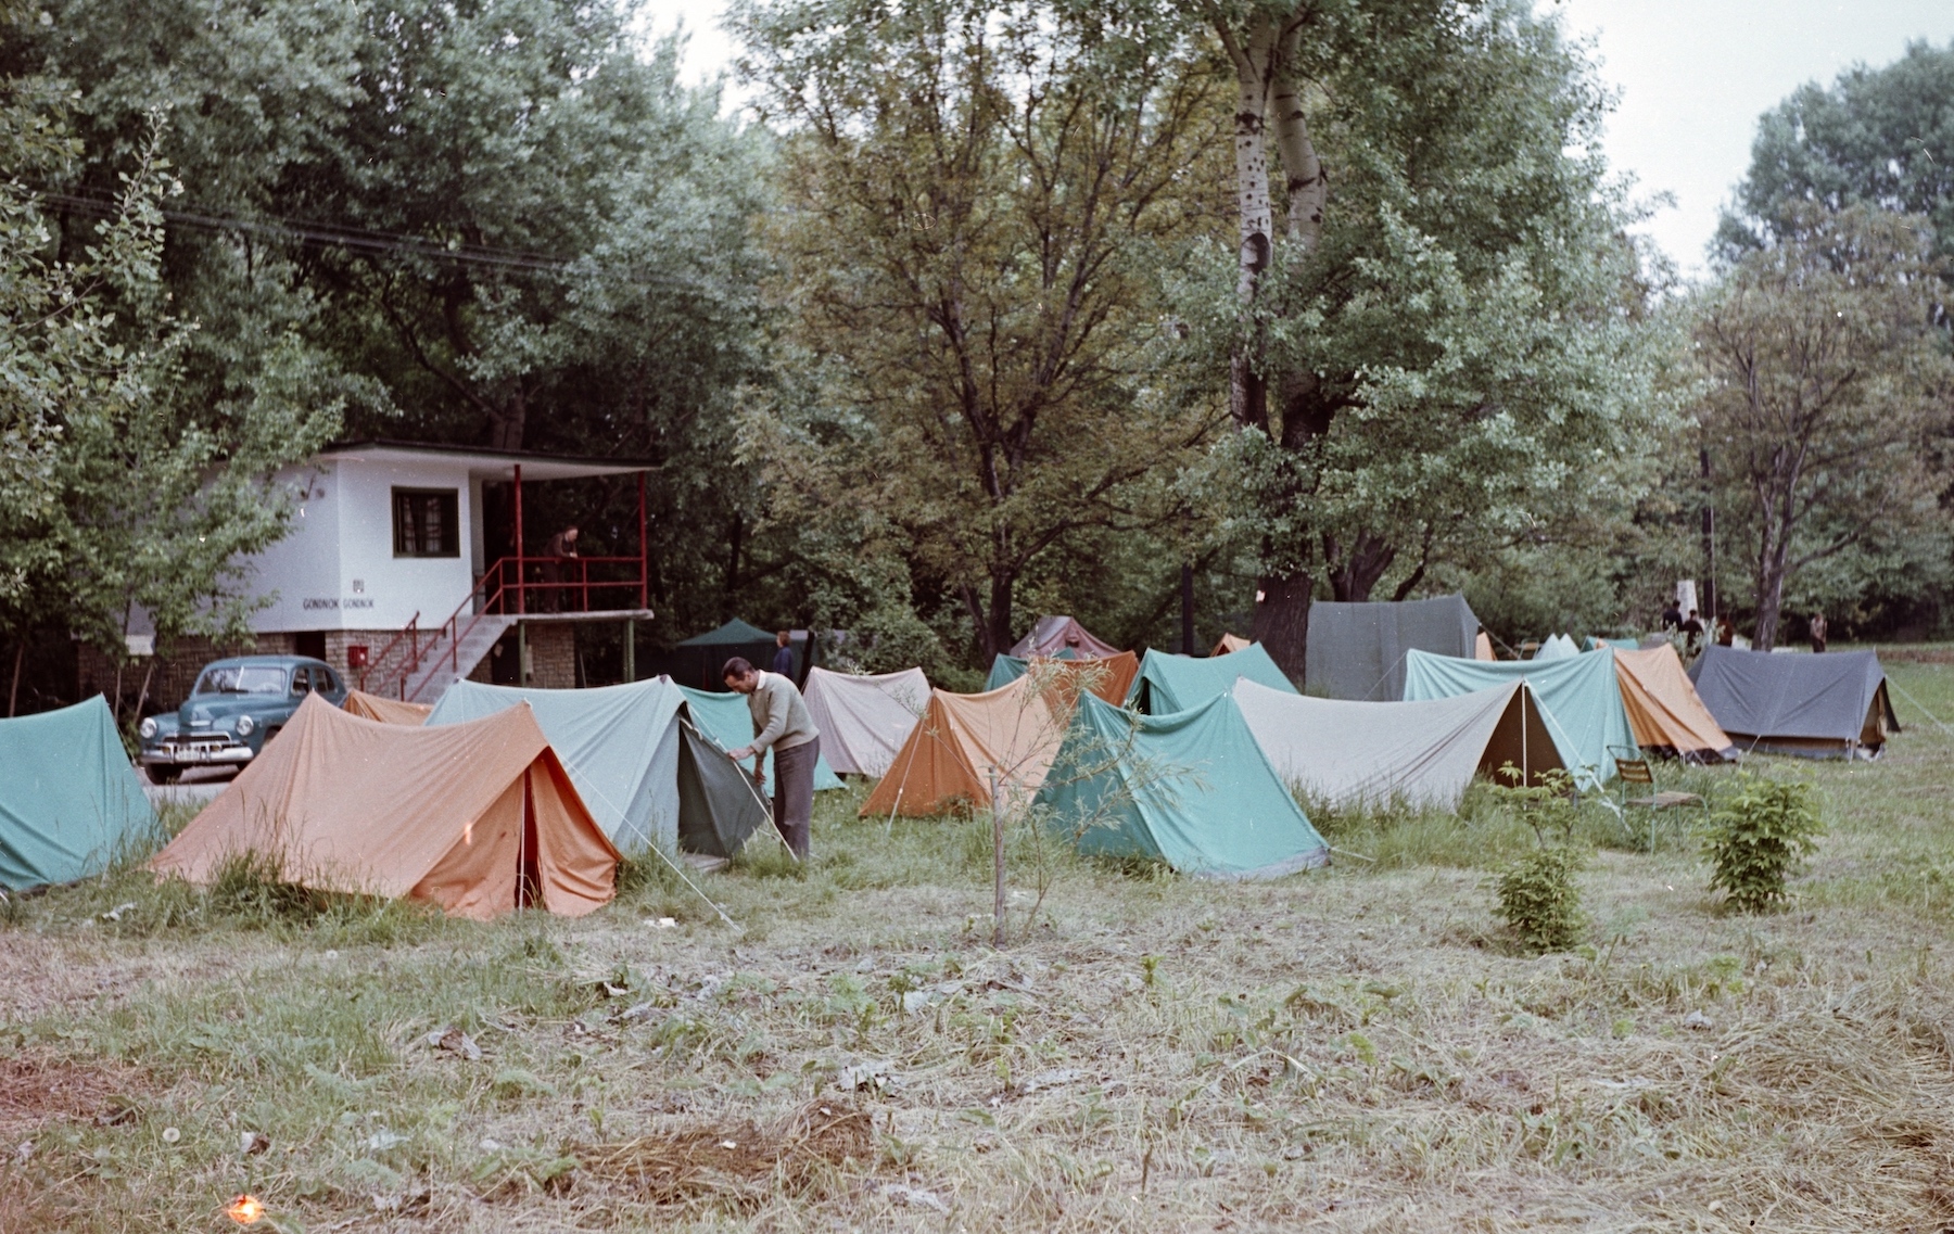
<path fill-rule="evenodd" d="M 1000 951 L 987 824 L 858 795 L 809 869 L 700 877 L 737 926 L 657 871 L 580 922 L 20 900 L 0 1230 L 219 1230 L 244 1191 L 315 1234 L 1948 1230 L 1954 664 L 1891 674 L 1882 761 L 1753 760 L 1825 802 L 1790 910 L 1720 914 L 1688 818 L 1651 855 L 1594 812 L 1567 955 L 1501 933 L 1532 832 L 1487 791 L 1323 816 L 1370 861 L 1272 884 L 1016 836 Z"/>

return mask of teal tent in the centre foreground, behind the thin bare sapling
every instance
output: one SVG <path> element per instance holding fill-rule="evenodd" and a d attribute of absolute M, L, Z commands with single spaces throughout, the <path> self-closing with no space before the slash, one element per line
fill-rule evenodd
<path fill-rule="evenodd" d="M 1081 695 L 1034 801 L 1081 853 L 1200 879 L 1278 879 L 1331 857 L 1225 693 L 1172 715 Z"/>

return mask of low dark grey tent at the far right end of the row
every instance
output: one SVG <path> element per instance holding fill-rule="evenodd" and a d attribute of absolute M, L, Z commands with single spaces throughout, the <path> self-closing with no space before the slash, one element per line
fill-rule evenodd
<path fill-rule="evenodd" d="M 1874 652 L 1743 652 L 1712 642 L 1690 681 L 1739 750 L 1878 758 L 1886 736 L 1899 732 Z"/>

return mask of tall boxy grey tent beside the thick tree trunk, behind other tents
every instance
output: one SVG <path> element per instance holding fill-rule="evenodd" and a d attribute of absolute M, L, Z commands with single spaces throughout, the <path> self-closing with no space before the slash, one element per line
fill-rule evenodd
<path fill-rule="evenodd" d="M 1405 652 L 1471 660 L 1479 619 L 1464 596 L 1401 603 L 1309 605 L 1309 650 L 1303 685 L 1311 693 L 1358 703 L 1405 697 Z"/>

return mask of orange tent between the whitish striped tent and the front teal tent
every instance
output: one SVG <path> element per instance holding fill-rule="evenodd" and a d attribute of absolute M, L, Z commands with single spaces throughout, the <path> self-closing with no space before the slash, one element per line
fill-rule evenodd
<path fill-rule="evenodd" d="M 1131 652 L 1126 652 L 1131 660 Z M 1014 799 L 1045 783 L 1071 717 L 1065 681 L 1030 672 L 979 695 L 932 689 L 930 705 L 889 773 L 862 802 L 862 818 L 940 814 L 956 802 L 991 804 L 991 767 Z M 1131 674 L 1127 674 L 1131 681 Z"/>

